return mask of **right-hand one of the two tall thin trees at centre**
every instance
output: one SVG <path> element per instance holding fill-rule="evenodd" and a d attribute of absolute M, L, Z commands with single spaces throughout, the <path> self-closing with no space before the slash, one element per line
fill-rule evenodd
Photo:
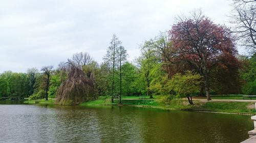
<path fill-rule="evenodd" d="M 117 49 L 117 62 L 119 63 L 119 104 L 121 104 L 122 95 L 122 65 L 125 63 L 126 57 L 126 50 L 123 46 L 119 46 Z"/>

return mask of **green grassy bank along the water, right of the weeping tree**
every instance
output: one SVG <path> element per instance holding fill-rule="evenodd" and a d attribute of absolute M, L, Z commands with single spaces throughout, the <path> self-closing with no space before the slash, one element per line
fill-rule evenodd
<path fill-rule="evenodd" d="M 111 103 L 110 99 L 99 99 L 84 102 L 80 104 L 82 106 L 92 105 L 119 105 L 118 99 L 115 99 L 114 103 Z M 241 113 L 241 114 L 255 114 L 254 103 L 247 102 L 200 102 L 195 101 L 194 105 L 187 104 L 185 100 L 177 100 L 169 105 L 163 105 L 158 100 L 127 100 L 123 99 L 121 105 L 132 105 L 132 106 L 145 106 L 145 107 L 159 107 L 167 109 L 178 109 L 178 110 L 194 110 L 194 111 L 212 111 L 212 112 L 227 112 L 227 113 Z"/>

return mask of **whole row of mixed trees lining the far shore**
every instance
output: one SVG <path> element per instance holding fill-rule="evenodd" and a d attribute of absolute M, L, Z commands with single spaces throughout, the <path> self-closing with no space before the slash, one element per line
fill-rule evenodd
<path fill-rule="evenodd" d="M 83 82 L 83 87 L 90 88 L 82 101 L 111 96 L 112 102 L 119 98 L 121 103 L 122 95 L 159 95 L 186 97 L 193 104 L 191 95 L 206 96 L 207 100 L 211 100 L 210 94 L 256 95 L 256 2 L 233 2 L 231 28 L 214 23 L 201 10 L 177 16 L 169 31 L 141 44 L 141 54 L 133 62 L 127 61 L 127 52 L 114 34 L 103 63 L 79 52 L 56 69 L 6 71 L 0 75 L 0 97 L 48 100 L 57 93 L 70 96 L 69 91 L 58 91 L 65 90 L 67 82 L 72 86 Z M 248 54 L 239 55 L 239 46 Z"/>

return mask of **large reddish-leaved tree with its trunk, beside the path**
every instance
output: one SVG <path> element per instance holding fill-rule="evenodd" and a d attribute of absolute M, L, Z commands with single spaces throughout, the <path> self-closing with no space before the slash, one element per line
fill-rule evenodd
<path fill-rule="evenodd" d="M 169 31 L 173 63 L 187 63 L 203 76 L 207 100 L 210 99 L 210 71 L 220 55 L 234 56 L 236 48 L 226 27 L 213 23 L 194 11 L 191 17 L 179 16 Z"/>

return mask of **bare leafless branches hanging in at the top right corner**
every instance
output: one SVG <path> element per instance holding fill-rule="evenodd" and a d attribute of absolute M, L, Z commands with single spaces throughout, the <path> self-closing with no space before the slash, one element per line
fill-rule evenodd
<path fill-rule="evenodd" d="M 231 30 L 241 45 L 248 49 L 248 52 L 256 52 L 256 1 L 233 0 L 233 11 L 230 23 L 233 24 Z"/>

